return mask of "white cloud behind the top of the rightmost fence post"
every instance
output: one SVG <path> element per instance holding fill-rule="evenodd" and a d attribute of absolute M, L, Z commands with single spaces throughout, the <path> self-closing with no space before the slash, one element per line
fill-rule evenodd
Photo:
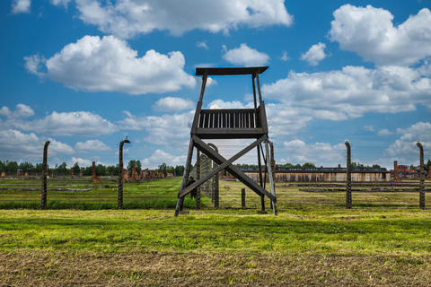
<path fill-rule="evenodd" d="M 431 124 L 429 122 L 418 122 L 408 128 L 399 128 L 397 134 L 401 136 L 384 152 L 386 156 L 393 160 L 418 163 L 419 149 L 417 143 L 420 142 L 428 154 L 426 157 L 429 157 L 429 150 L 431 149 Z"/>

